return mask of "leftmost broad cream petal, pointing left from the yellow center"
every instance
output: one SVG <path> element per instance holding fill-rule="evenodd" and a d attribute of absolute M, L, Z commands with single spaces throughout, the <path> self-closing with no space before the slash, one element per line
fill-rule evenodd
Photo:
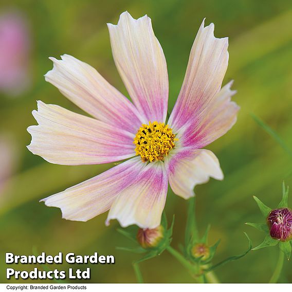
<path fill-rule="evenodd" d="M 41 101 L 32 114 L 39 125 L 27 129 L 28 149 L 51 163 L 87 165 L 135 156 L 134 134 L 127 131 Z"/>

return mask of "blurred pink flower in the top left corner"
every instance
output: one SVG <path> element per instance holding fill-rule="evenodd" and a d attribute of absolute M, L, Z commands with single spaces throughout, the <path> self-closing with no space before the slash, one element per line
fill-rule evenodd
<path fill-rule="evenodd" d="M 28 61 L 30 35 L 24 16 L 17 12 L 0 15 L 0 91 L 17 95 L 30 82 Z"/>

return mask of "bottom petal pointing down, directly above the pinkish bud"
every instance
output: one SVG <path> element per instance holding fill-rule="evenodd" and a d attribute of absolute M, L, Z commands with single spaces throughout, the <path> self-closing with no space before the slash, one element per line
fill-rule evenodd
<path fill-rule="evenodd" d="M 149 163 L 115 199 L 108 213 L 107 224 L 117 219 L 122 227 L 132 224 L 155 228 L 160 224 L 166 202 L 168 179 L 162 161 Z"/>

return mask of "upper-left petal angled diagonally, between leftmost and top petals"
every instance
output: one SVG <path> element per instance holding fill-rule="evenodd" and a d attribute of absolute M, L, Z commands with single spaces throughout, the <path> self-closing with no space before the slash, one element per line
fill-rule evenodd
<path fill-rule="evenodd" d="M 92 66 L 67 54 L 61 58 L 50 58 L 53 69 L 46 81 L 93 117 L 136 133 L 141 121 L 135 106 Z"/>

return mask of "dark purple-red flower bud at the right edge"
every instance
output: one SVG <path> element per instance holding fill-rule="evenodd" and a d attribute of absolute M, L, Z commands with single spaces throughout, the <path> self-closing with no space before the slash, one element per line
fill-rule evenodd
<path fill-rule="evenodd" d="M 280 241 L 292 239 L 292 211 L 288 208 L 272 210 L 267 217 L 270 236 Z"/>

